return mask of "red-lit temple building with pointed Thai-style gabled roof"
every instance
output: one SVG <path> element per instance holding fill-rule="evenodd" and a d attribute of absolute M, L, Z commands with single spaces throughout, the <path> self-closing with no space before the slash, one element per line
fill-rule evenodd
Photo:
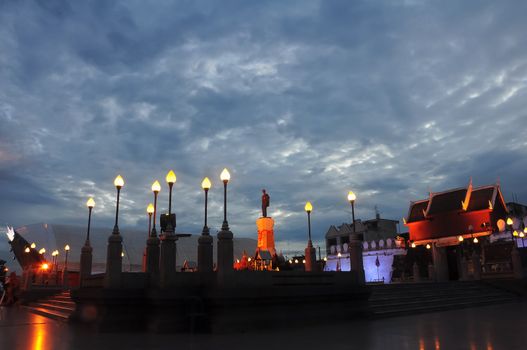
<path fill-rule="evenodd" d="M 511 270 L 511 241 L 498 221 L 508 209 L 499 184 L 430 192 L 412 202 L 404 220 L 412 247 L 431 250 L 428 276 L 439 281 L 478 278 L 481 273 Z M 512 237 L 512 236 L 511 236 Z"/>

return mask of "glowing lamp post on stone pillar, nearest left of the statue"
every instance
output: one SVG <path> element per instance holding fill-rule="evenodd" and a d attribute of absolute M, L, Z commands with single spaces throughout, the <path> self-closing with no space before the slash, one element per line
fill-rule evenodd
<path fill-rule="evenodd" d="M 229 229 L 227 222 L 227 184 L 231 179 L 231 174 L 227 168 L 223 169 L 220 175 L 223 181 L 223 224 L 221 231 L 218 232 L 218 272 L 221 274 L 233 270 L 234 256 L 233 256 L 233 234 Z M 222 277 L 220 277 L 222 278 Z"/>

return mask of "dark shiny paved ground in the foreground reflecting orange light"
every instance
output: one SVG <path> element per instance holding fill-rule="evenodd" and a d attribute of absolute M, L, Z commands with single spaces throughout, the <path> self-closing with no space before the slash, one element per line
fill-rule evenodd
<path fill-rule="evenodd" d="M 100 334 L 0 307 L 0 349 L 527 349 L 527 302 L 226 335 Z"/>

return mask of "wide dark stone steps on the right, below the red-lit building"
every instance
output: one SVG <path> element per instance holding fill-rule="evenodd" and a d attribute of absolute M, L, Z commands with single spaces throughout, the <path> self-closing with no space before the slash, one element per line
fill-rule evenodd
<path fill-rule="evenodd" d="M 484 282 L 443 282 L 373 285 L 369 303 L 373 317 L 391 317 L 517 299 L 515 294 Z"/>

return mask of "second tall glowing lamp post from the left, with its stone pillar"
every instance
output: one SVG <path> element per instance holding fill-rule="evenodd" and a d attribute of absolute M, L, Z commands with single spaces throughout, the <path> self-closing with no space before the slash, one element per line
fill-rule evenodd
<path fill-rule="evenodd" d="M 118 175 L 113 184 L 117 189 L 117 205 L 115 207 L 115 225 L 108 238 L 108 249 L 106 256 L 106 278 L 104 281 L 106 288 L 118 288 L 121 286 L 121 272 L 123 268 L 123 238 L 119 232 L 119 196 L 124 180 Z"/>

